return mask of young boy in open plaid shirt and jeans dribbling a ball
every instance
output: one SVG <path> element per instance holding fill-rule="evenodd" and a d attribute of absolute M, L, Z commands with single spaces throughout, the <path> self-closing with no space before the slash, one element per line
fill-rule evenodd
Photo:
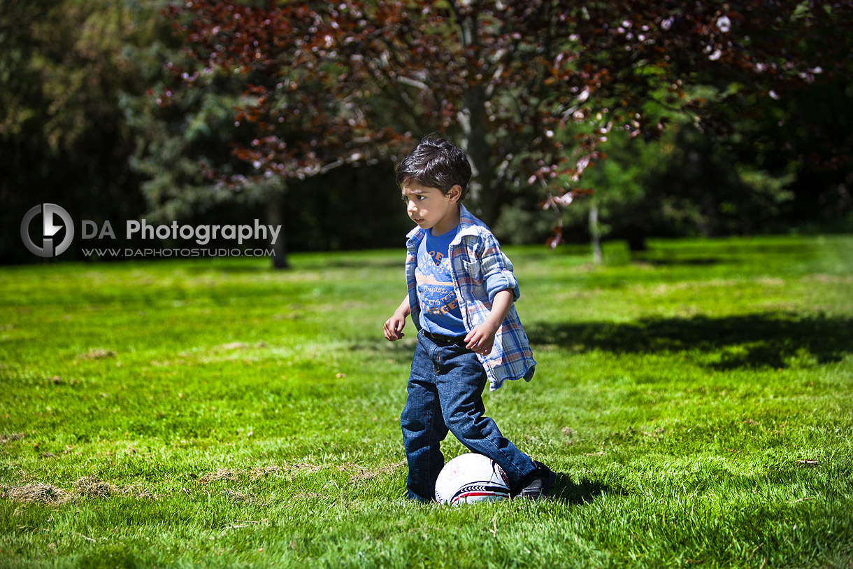
<path fill-rule="evenodd" d="M 444 466 L 439 443 L 450 431 L 506 472 L 514 496 L 537 499 L 554 472 L 531 460 L 485 416 L 482 392 L 533 377 L 527 336 L 513 302 L 513 265 L 485 224 L 461 205 L 471 179 L 465 153 L 436 134 L 397 167 L 397 185 L 417 227 L 406 243 L 409 294 L 384 326 L 394 342 L 406 316 L 418 331 L 400 424 L 409 461 L 409 499 L 432 500 Z"/>

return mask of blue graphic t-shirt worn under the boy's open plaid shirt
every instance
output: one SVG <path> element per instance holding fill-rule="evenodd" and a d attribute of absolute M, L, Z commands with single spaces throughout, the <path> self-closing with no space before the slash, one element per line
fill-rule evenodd
<path fill-rule="evenodd" d="M 450 242 L 458 230 L 459 226 L 456 226 L 438 237 L 433 237 L 432 230 L 427 230 L 426 237 L 418 247 L 415 267 L 418 302 L 421 304 L 421 328 L 433 334 L 454 337 L 464 336 L 466 332 L 456 290 L 453 289 L 448 256 Z"/>

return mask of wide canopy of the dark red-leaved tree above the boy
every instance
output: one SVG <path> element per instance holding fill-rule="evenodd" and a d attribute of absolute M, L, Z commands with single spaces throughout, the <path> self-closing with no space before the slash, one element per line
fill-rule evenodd
<path fill-rule="evenodd" d="M 850 0 L 190 0 L 172 14 L 202 68 L 242 78 L 237 119 L 257 136 L 235 155 L 259 172 L 310 175 L 438 129 L 467 150 L 487 222 L 518 193 L 567 205 L 614 130 L 657 138 L 675 112 L 723 137 L 850 79 L 846 43 L 828 39 L 850 37 Z"/>

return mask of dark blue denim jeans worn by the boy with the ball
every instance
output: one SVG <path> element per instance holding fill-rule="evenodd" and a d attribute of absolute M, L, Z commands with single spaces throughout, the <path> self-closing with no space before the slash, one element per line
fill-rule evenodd
<path fill-rule="evenodd" d="M 501 435 L 484 415 L 486 376 L 464 341 L 442 340 L 418 332 L 408 396 L 400 425 L 409 461 L 409 499 L 430 502 L 444 467 L 439 443 L 450 431 L 473 453 L 486 455 L 506 472 L 510 490 L 536 469 L 531 458 Z"/>

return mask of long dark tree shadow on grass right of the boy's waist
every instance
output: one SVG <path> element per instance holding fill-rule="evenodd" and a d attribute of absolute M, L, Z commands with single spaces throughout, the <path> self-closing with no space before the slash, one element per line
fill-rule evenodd
<path fill-rule="evenodd" d="M 766 313 L 711 318 L 647 318 L 635 322 L 531 322 L 531 343 L 575 352 L 720 353 L 718 369 L 789 367 L 841 361 L 853 354 L 853 320 L 823 314 Z"/>

